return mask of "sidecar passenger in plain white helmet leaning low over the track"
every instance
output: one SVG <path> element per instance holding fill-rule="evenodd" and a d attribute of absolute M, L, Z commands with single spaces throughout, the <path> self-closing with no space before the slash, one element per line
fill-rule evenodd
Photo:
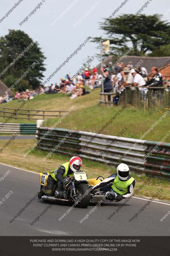
<path fill-rule="evenodd" d="M 92 190 L 100 188 L 100 191 L 106 192 L 107 200 L 116 199 L 119 202 L 133 196 L 134 187 L 135 179 L 130 176 L 128 165 L 122 163 L 117 166 L 117 173 L 95 185 Z"/>

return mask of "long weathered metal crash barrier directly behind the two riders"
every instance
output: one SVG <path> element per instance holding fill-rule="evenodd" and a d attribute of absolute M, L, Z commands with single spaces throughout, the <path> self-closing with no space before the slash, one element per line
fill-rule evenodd
<path fill-rule="evenodd" d="M 54 128 L 47 133 L 49 129 L 50 127 L 37 128 L 37 140 L 41 138 L 37 148 L 52 151 L 56 147 L 54 152 L 77 154 L 82 158 L 107 164 L 118 165 L 122 162 L 128 164 L 131 170 L 150 175 L 154 173 L 170 179 L 170 143 L 83 131 L 72 131 L 69 135 L 70 130 L 60 128 Z M 66 135 L 68 138 L 62 140 Z M 154 147 L 156 149 L 153 149 Z M 150 150 L 153 152 L 149 156 Z"/>

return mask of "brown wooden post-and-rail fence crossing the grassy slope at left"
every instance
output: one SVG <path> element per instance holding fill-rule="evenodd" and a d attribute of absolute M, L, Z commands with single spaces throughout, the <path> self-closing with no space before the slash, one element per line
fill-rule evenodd
<path fill-rule="evenodd" d="M 4 109 L 2 111 L 1 109 Z M 6 109 L 11 109 L 14 110 L 13 112 L 11 111 L 5 111 Z M 39 119 L 45 119 L 46 116 L 62 116 L 61 113 L 65 113 L 66 111 L 60 111 L 60 110 L 33 110 L 33 109 L 19 109 L 19 111 L 26 111 L 27 113 L 19 113 L 17 108 L 4 108 L 0 107 L 0 114 L 3 113 L 3 115 L 0 115 L 4 118 L 9 117 L 6 116 L 5 114 L 14 114 L 15 116 L 12 116 L 14 119 L 28 119 L 28 120 L 39 120 Z M 39 114 L 31 114 L 31 112 L 38 112 Z M 42 112 L 42 114 L 40 114 Z M 58 115 L 46 115 L 45 112 L 53 112 L 56 113 L 58 112 Z M 20 115 L 25 115 L 27 117 L 20 117 Z M 31 116 L 39 116 L 39 118 L 31 118 Z"/>

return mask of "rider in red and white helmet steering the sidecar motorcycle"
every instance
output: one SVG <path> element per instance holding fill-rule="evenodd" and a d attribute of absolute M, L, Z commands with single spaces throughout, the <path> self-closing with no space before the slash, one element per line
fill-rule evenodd
<path fill-rule="evenodd" d="M 44 194 L 47 196 L 52 196 L 58 181 L 66 186 L 69 183 L 67 177 L 71 177 L 73 176 L 74 172 L 80 171 L 81 166 L 81 158 L 78 156 L 73 156 L 70 158 L 69 162 L 60 165 L 56 170 L 50 171 L 47 178 L 47 186 L 41 189 L 38 194 L 38 198 L 41 199 Z"/>

